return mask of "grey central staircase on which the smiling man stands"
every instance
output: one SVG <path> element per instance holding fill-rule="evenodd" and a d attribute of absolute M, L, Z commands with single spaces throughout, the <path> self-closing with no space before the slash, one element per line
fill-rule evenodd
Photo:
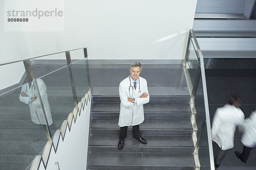
<path fill-rule="evenodd" d="M 149 92 L 150 93 L 150 92 Z M 189 96 L 150 96 L 140 124 L 141 144 L 128 127 L 118 150 L 119 96 L 93 96 L 89 170 L 194 170 Z"/>

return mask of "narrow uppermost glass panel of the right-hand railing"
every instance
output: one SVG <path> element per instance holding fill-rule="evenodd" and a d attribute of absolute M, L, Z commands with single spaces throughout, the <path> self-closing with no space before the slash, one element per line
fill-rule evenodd
<path fill-rule="evenodd" d="M 187 57 L 188 58 L 186 62 L 186 68 L 189 71 L 189 77 L 191 79 L 192 85 L 194 85 L 199 61 L 191 38 L 189 42 L 189 50 Z"/>

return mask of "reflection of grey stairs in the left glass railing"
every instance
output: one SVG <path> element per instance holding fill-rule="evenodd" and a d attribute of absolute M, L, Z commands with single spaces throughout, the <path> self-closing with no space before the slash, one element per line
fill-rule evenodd
<path fill-rule="evenodd" d="M 20 102 L 20 91 L 0 96 L 0 170 L 26 170 L 47 143 L 43 126 L 31 121 L 29 106 Z M 59 96 L 51 87 L 47 94 L 54 134 L 74 107 L 73 97 Z"/>

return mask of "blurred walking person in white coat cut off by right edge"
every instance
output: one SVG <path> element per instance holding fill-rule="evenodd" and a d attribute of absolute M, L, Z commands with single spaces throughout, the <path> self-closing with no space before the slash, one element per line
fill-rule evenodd
<path fill-rule="evenodd" d="M 250 151 L 256 146 L 256 111 L 244 120 L 241 142 L 244 144 L 243 152 L 236 151 L 236 156 L 244 163 L 247 161 Z"/>

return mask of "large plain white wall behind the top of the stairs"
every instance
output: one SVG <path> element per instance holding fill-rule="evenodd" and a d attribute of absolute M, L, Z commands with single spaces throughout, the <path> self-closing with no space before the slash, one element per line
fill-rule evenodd
<path fill-rule="evenodd" d="M 1 62 L 83 47 L 89 59 L 183 59 L 196 2 L 66 0 L 65 31 L 5 32 L 1 27 Z M 3 0 L 0 10 L 3 24 Z M 20 80 L 9 78 L 15 79 L 9 85 Z"/>

